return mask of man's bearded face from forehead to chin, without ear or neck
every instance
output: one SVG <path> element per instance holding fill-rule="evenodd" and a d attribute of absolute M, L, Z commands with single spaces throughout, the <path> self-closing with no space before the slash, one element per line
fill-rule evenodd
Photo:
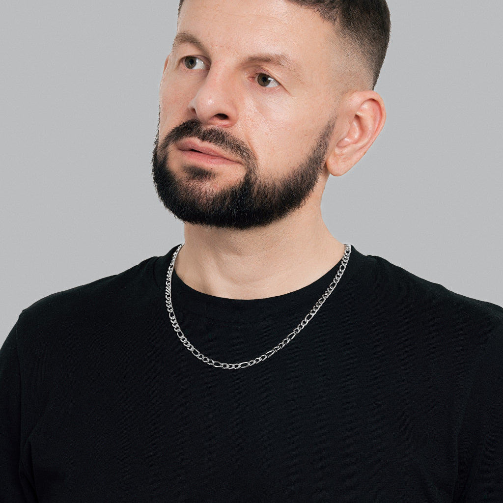
<path fill-rule="evenodd" d="M 322 191 L 336 124 L 332 31 L 286 0 L 185 0 L 153 156 L 168 209 L 247 228 Z"/>

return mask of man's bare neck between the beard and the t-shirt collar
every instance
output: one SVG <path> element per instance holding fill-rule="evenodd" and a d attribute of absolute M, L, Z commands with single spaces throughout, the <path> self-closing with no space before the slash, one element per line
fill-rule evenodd
<path fill-rule="evenodd" d="M 319 208 L 304 206 L 267 227 L 249 230 L 185 226 L 175 270 L 202 293 L 231 299 L 274 297 L 328 272 L 344 245 L 326 228 Z"/>

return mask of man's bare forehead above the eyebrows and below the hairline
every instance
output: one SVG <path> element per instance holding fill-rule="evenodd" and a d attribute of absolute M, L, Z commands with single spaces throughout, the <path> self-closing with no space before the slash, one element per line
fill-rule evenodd
<path fill-rule="evenodd" d="M 288 0 L 185 0 L 177 32 L 194 35 L 217 57 L 270 52 L 300 64 L 336 57 L 332 25 Z"/>

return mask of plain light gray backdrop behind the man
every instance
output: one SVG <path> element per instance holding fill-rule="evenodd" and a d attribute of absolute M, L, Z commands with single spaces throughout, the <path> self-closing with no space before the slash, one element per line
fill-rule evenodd
<path fill-rule="evenodd" d="M 376 91 L 388 121 L 323 212 L 332 233 L 503 304 L 501 4 L 389 0 Z M 463 6 L 462 6 L 463 5 Z M 0 15 L 0 343 L 50 293 L 164 255 L 182 224 L 154 192 L 165 2 L 11 2 Z"/>

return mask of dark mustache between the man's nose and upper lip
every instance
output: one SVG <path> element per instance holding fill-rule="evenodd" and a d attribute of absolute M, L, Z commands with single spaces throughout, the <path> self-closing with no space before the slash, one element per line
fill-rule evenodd
<path fill-rule="evenodd" d="M 243 141 L 232 136 L 222 128 L 204 128 L 198 119 L 190 119 L 173 128 L 160 143 L 160 156 L 165 157 L 169 147 L 184 138 L 197 138 L 198 140 L 212 143 L 222 150 L 239 157 L 243 163 L 248 165 L 257 164 L 255 154 Z"/>

